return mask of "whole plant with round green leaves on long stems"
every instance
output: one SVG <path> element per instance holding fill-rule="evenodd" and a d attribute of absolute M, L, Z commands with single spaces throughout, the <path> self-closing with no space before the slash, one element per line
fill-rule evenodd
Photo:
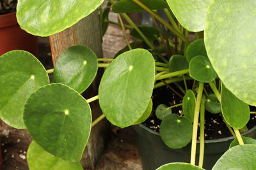
<path fill-rule="evenodd" d="M 31 34 L 49 36 L 75 24 L 102 3 L 76 1 L 64 6 L 60 5 L 61 1 L 56 2 L 18 1 L 20 27 Z M 216 155 L 220 159 L 212 169 L 255 169 L 255 139 L 241 136 L 241 131 L 249 134 L 255 129 L 247 130 L 246 127 L 250 120 L 249 104 L 255 106 L 255 59 L 251 50 L 255 48 L 252 41 L 255 35 L 253 27 L 248 26 L 256 23 L 253 20 L 255 2 L 122 0 L 115 3 L 109 0 L 109 3 L 113 5 L 113 11 L 129 22 L 130 25 L 122 24 L 118 15 L 123 30 L 129 27 L 132 36 L 141 39 L 131 44 L 127 41 L 127 47 L 115 59 L 97 59 L 88 47 L 72 46 L 61 54 L 54 69 L 46 71 L 28 52 L 15 50 L 0 57 L 0 117 L 13 127 L 28 129 L 34 140 L 27 155 L 29 169 L 82 169 L 79 160 L 91 127 L 104 117 L 122 128 L 145 122 L 152 113 L 153 89 L 164 85 L 169 87 L 168 84 L 177 86 L 176 89 L 169 87 L 174 93 L 178 95 L 178 89 L 184 95 L 179 94 L 180 103 L 156 107 L 156 117 L 162 120 L 161 139 L 152 131 L 148 136 L 154 136 L 152 143 L 164 142 L 175 149 L 176 155 L 191 149 L 191 156 L 190 164 L 177 160 L 178 163 L 166 164 L 159 169 L 202 169 L 204 148 L 207 164 L 204 166 L 209 169 L 212 163 L 209 163 L 207 149 L 212 148 L 207 146 L 207 141 L 204 147 L 204 120 L 207 115 L 216 113 L 220 113 L 220 118 L 236 139 L 230 149 L 227 148 L 228 140 L 232 138 L 221 141 L 225 143 L 223 149 L 228 150 L 222 151 L 225 153 L 221 157 L 222 153 Z M 65 8 L 68 5 L 72 6 L 69 10 Z M 84 10 L 84 6 L 88 8 Z M 163 8 L 171 24 L 154 11 Z M 132 11 L 148 11 L 154 22 L 158 20 L 164 25 L 163 31 L 157 24 L 156 28 L 135 25 L 125 14 Z M 106 14 L 100 17 L 102 27 L 106 29 Z M 175 35 L 174 39 L 165 28 Z M 189 41 L 189 32 L 196 32 L 195 41 Z M 125 31 L 124 35 L 126 37 Z M 106 67 L 99 96 L 84 99 L 80 94 L 92 83 L 98 67 Z M 54 83 L 49 84 L 47 73 L 51 72 Z M 88 103 L 97 99 L 104 115 L 92 122 Z M 172 108 L 181 105 L 182 112 L 172 113 Z M 205 108 L 209 113 L 205 114 Z M 251 113 L 254 112 L 251 110 Z M 195 166 L 199 116 L 200 154 L 199 164 Z M 139 126 L 135 127 L 139 135 L 150 131 L 143 125 Z M 250 135 L 255 137 L 255 134 Z M 191 145 L 188 145 L 190 141 Z M 217 145 L 210 147 L 220 148 L 216 141 L 210 142 Z M 164 150 L 169 150 L 165 145 Z"/>

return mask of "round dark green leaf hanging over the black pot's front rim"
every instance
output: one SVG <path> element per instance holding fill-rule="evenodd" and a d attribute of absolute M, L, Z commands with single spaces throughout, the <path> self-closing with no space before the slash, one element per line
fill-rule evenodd
<path fill-rule="evenodd" d="M 192 129 L 193 126 L 188 118 L 172 114 L 163 118 L 160 136 L 168 147 L 182 148 L 191 141 Z"/>

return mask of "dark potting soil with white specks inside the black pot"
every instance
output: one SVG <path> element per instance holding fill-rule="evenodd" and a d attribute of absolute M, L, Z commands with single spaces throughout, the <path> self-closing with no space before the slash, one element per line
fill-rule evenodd
<path fill-rule="evenodd" d="M 190 84 L 190 83 L 189 83 Z M 190 87 L 190 86 L 188 86 Z M 173 89 L 177 90 L 180 94 L 182 92 L 177 89 L 177 87 L 173 86 Z M 207 87 L 205 87 L 207 89 Z M 175 104 L 182 103 L 182 98 L 177 96 L 170 90 L 168 87 L 160 87 L 155 89 L 152 96 L 153 100 L 153 110 L 150 117 L 143 123 L 145 126 L 149 127 L 150 129 L 159 132 L 159 127 L 161 124 L 161 120 L 159 120 L 156 115 L 155 111 L 159 104 L 166 104 L 166 106 L 173 106 Z M 255 111 L 255 107 L 250 107 L 251 111 Z M 172 108 L 172 113 L 177 113 L 180 115 L 182 113 L 182 106 Z M 248 129 L 255 127 L 256 125 L 256 115 L 251 114 L 250 120 L 246 125 Z M 198 136 L 199 134 L 200 124 L 198 124 Z M 228 130 L 226 124 L 223 122 L 223 119 L 220 114 L 212 114 L 208 111 L 205 111 L 205 139 L 220 139 L 232 136 L 230 131 Z"/>

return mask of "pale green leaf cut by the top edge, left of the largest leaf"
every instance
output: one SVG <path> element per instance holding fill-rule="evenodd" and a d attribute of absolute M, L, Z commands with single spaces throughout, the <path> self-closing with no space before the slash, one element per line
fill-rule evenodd
<path fill-rule="evenodd" d="M 211 0 L 167 0 L 173 14 L 188 31 L 203 31 Z M 191 19 L 193 16 L 193 19 Z"/>

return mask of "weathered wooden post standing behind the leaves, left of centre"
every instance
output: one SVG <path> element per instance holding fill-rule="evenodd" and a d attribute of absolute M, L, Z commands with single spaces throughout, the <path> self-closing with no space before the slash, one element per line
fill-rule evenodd
<path fill-rule="evenodd" d="M 95 10 L 88 17 L 83 18 L 77 24 L 49 37 L 52 50 L 52 62 L 55 64 L 60 54 L 69 46 L 86 45 L 95 52 L 97 57 L 103 57 L 102 52 L 102 38 L 100 34 L 99 24 L 99 10 Z M 85 99 L 96 96 L 98 94 L 99 81 L 102 76 L 103 69 L 99 69 L 97 77 L 92 85 L 83 93 Z M 90 103 L 92 108 L 93 120 L 99 117 L 102 112 L 99 108 L 99 102 L 94 101 Z M 82 164 L 85 168 L 94 168 L 95 163 L 102 155 L 106 138 L 109 132 L 108 121 L 102 120 L 95 127 L 92 128 L 90 139 L 84 150 Z"/>

